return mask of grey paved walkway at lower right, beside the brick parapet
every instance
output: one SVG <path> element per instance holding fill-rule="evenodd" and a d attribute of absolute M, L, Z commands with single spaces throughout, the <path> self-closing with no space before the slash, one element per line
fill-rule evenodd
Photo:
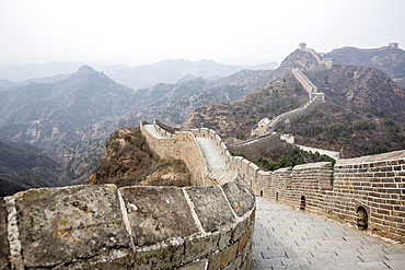
<path fill-rule="evenodd" d="M 257 199 L 252 269 L 405 269 L 405 245 Z"/>

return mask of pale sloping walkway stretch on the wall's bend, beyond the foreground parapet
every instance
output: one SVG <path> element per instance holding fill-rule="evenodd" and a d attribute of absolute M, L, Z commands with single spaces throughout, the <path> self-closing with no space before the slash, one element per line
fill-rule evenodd
<path fill-rule="evenodd" d="M 207 161 L 209 172 L 227 168 L 222 155 L 219 153 L 216 144 L 210 139 L 197 137 L 196 140 L 201 149 L 204 157 Z"/>

